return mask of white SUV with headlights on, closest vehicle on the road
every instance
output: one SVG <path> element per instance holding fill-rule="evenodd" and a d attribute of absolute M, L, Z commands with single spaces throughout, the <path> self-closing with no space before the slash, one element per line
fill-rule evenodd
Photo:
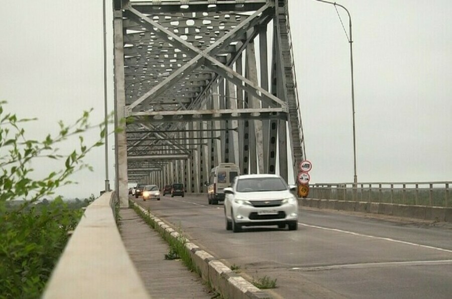
<path fill-rule="evenodd" d="M 226 229 L 240 232 L 243 226 L 277 225 L 278 228 L 298 229 L 298 201 L 276 174 L 247 174 L 237 176 L 231 187 L 224 188 L 224 217 Z"/>

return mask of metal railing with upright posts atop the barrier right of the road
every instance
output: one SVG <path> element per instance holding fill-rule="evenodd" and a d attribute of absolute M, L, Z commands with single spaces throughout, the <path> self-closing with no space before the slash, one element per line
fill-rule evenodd
<path fill-rule="evenodd" d="M 452 181 L 316 183 L 309 185 L 308 197 L 449 208 L 452 207 L 451 184 Z"/>

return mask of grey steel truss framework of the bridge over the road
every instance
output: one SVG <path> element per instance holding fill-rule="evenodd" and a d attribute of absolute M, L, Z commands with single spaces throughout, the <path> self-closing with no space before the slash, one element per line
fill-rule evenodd
<path fill-rule="evenodd" d="M 124 202 L 131 181 L 202 192 L 220 162 L 297 174 L 305 151 L 287 0 L 114 0 L 114 39 Z"/>

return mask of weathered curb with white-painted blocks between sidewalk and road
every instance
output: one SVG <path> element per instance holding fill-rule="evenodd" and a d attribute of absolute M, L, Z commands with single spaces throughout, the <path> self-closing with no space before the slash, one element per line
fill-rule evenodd
<path fill-rule="evenodd" d="M 164 223 L 151 212 L 143 209 L 137 203 L 133 203 L 145 215 L 148 215 L 161 229 L 165 230 L 172 238 L 180 237 L 172 227 Z M 185 247 L 199 269 L 202 280 L 209 282 L 215 290 L 219 291 L 224 298 L 238 299 L 271 299 L 268 293 L 257 288 L 241 275 L 233 272 L 228 266 L 216 259 L 208 252 L 200 249 L 195 243 L 186 239 Z"/>

